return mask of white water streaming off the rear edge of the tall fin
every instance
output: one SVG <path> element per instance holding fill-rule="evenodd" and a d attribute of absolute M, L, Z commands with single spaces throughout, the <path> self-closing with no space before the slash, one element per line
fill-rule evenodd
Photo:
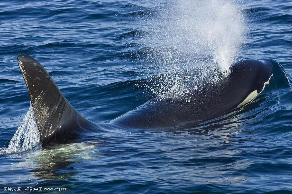
<path fill-rule="evenodd" d="M 23 118 L 20 126 L 13 135 L 8 148 L 1 148 L 0 154 L 13 154 L 32 149 L 40 142 L 39 130 L 37 128 L 32 104 Z"/>

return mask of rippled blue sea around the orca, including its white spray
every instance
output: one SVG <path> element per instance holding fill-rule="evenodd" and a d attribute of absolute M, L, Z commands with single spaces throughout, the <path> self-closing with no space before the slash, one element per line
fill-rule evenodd
<path fill-rule="evenodd" d="M 0 192 L 292 193 L 291 9 L 290 0 L 1 1 Z M 184 94 L 189 70 L 199 90 L 236 60 L 271 58 L 287 79 L 193 129 L 108 129 L 41 147 L 20 54 L 93 122 Z"/>

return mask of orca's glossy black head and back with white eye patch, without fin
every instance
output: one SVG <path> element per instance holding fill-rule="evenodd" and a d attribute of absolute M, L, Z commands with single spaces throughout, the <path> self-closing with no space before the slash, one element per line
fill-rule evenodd
<path fill-rule="evenodd" d="M 192 90 L 190 99 L 154 99 L 111 123 L 122 127 L 165 129 L 216 118 L 255 99 L 271 78 L 273 65 L 270 60 L 246 59 L 234 63 L 230 71 L 215 85 Z"/>

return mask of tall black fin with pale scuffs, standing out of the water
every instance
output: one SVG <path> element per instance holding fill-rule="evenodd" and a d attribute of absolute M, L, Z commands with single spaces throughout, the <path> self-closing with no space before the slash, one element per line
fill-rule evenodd
<path fill-rule="evenodd" d="M 41 143 L 75 139 L 82 126 L 90 121 L 83 118 L 67 101 L 44 67 L 28 55 L 18 56 L 18 65 L 25 80 Z"/>

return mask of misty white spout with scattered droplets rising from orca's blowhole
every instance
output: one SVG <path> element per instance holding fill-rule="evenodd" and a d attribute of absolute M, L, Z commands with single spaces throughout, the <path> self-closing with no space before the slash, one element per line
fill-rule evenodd
<path fill-rule="evenodd" d="M 174 1 L 142 39 L 147 63 L 159 74 L 146 84 L 150 94 L 190 99 L 186 84 L 192 81 L 192 91 L 200 91 L 228 76 L 243 41 L 244 17 L 234 1 Z"/>

